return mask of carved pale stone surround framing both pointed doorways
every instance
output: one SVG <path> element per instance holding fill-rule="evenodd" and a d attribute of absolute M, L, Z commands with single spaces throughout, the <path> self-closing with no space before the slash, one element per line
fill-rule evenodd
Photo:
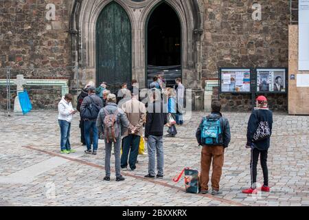
<path fill-rule="evenodd" d="M 95 23 L 102 8 L 112 0 L 75 0 L 71 14 L 72 44 L 75 50 L 76 64 L 79 65 L 80 82 L 95 80 Z M 132 24 L 132 77 L 139 80 L 139 85 L 146 85 L 145 62 L 145 26 L 152 8 L 163 0 L 113 0 L 126 10 Z M 203 36 L 203 1 L 200 0 L 165 0 L 172 6 L 182 26 L 182 65 L 183 83 L 192 89 L 194 97 L 203 98 L 201 82 L 201 41 Z M 196 99 L 194 98 L 193 99 Z M 194 100 L 193 100 L 194 102 Z M 203 100 L 201 100 L 203 102 Z M 196 104 L 195 104 L 196 105 Z M 203 104 L 202 104 L 203 105 Z M 200 109 L 196 107 L 196 109 Z"/>

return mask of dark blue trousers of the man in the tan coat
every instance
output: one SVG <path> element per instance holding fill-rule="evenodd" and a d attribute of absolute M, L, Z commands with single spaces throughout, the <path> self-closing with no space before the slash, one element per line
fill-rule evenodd
<path fill-rule="evenodd" d="M 141 136 L 139 135 L 128 135 L 122 140 L 122 168 L 126 168 L 128 164 L 131 170 L 135 170 L 137 155 L 139 155 L 139 142 Z M 130 153 L 129 159 L 128 154 Z"/>

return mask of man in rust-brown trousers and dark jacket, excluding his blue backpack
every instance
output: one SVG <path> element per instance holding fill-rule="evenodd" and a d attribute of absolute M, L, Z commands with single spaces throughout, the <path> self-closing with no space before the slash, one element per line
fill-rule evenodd
<path fill-rule="evenodd" d="M 201 131 L 202 124 L 198 126 L 196 131 L 196 140 L 199 145 L 203 145 L 202 156 L 201 156 L 201 193 L 206 194 L 208 192 L 208 181 L 209 181 L 209 169 L 211 166 L 212 160 L 212 175 L 211 175 L 211 194 L 218 195 L 222 192 L 219 190 L 219 182 L 222 175 L 222 166 L 224 162 L 224 153 L 225 148 L 229 146 L 229 142 L 231 141 L 231 132 L 229 128 L 229 121 L 227 118 L 222 117 L 221 111 L 221 103 L 213 102 L 211 104 L 211 114 L 207 116 L 208 118 L 220 120 L 220 126 L 222 131 L 222 145 L 214 146 L 214 145 L 206 145 L 202 143 Z"/>

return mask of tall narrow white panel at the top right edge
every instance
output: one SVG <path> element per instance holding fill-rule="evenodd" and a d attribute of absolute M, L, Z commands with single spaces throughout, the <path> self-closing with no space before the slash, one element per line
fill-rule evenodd
<path fill-rule="evenodd" d="M 299 70 L 309 70 L 309 0 L 299 0 Z"/>

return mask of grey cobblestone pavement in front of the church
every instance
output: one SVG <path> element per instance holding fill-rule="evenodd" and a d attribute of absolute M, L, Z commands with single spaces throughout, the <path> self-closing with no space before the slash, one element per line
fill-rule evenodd
<path fill-rule="evenodd" d="M 309 206 L 309 117 L 274 115 L 268 156 L 271 192 L 244 195 L 250 184 L 250 151 L 244 148 L 249 113 L 225 113 L 232 140 L 225 151 L 220 185 L 222 195 L 187 194 L 183 179 L 172 178 L 185 166 L 200 170 L 201 147 L 195 140 L 204 113 L 194 112 L 175 138 L 164 139 L 165 178 L 144 179 L 148 157 L 139 156 L 135 172 L 124 171 L 126 181 L 102 181 L 104 144 L 98 155 L 84 155 L 79 143 L 78 117 L 71 126 L 76 154 L 59 154 L 56 111 L 32 111 L 6 118 L 0 113 L 1 206 Z M 112 167 L 114 159 L 112 159 Z M 113 173 L 112 173 L 113 175 Z M 258 168 L 262 184 L 262 170 Z"/>

